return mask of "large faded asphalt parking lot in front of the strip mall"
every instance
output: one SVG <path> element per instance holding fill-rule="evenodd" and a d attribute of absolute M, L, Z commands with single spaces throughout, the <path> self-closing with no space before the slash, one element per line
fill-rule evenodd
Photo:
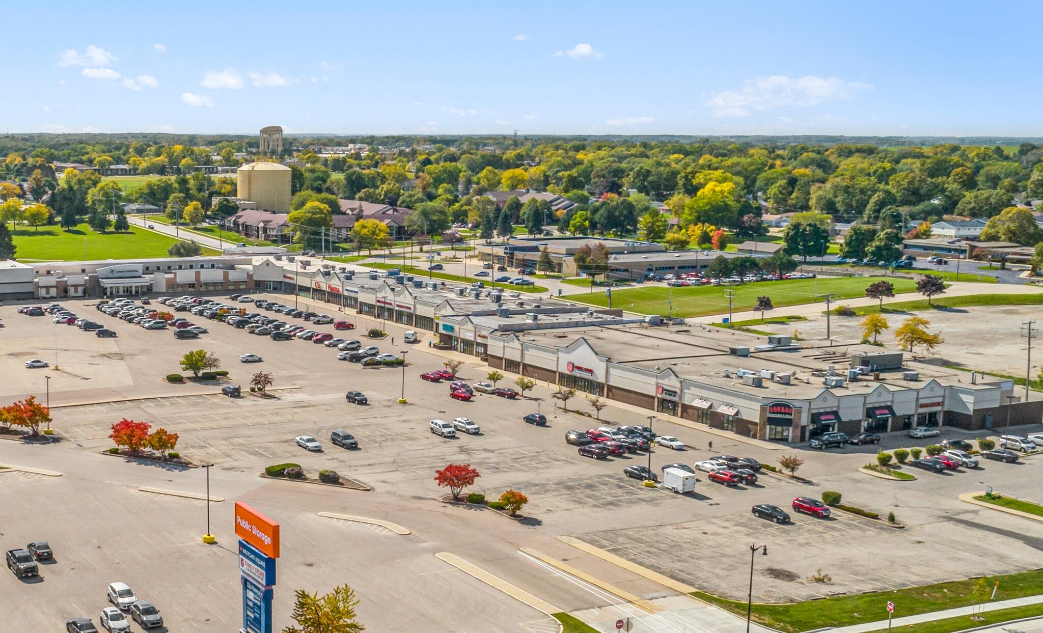
<path fill-rule="evenodd" d="M 287 302 L 285 297 L 282 300 Z M 292 300 L 290 297 L 289 301 Z M 56 550 L 58 543 L 76 543 L 78 574 L 68 570 L 69 586 L 81 578 L 80 574 L 90 574 L 94 579 L 90 589 L 68 589 L 75 609 L 66 606 L 70 601 L 59 599 L 60 593 L 53 594 L 55 606 L 63 606 L 62 614 L 72 610 L 75 614 L 82 611 L 96 616 L 87 605 L 80 604 L 79 595 L 82 593 L 82 600 L 87 600 L 88 594 L 103 593 L 104 585 L 117 579 L 114 575 L 122 575 L 120 578 L 127 582 L 135 581 L 131 586 L 135 583 L 145 586 L 150 576 L 144 570 L 152 568 L 151 561 L 155 560 L 149 558 L 152 549 L 157 547 L 172 560 L 232 556 L 196 543 L 201 529 L 195 526 L 204 510 L 199 504 L 136 490 L 138 486 L 154 486 L 201 492 L 200 470 L 161 467 L 101 455 L 112 445 L 107 438 L 110 425 L 123 417 L 178 433 L 177 449 L 183 456 L 197 463 L 216 464 L 212 473 L 215 494 L 228 500 L 250 500 L 247 503 L 256 503 L 285 521 L 284 534 L 294 536 L 285 550 L 289 553 L 284 555 L 287 560 L 280 563 L 287 569 L 287 575 L 281 576 L 281 590 L 276 591 L 277 600 L 284 601 L 278 611 L 284 619 L 289 611 L 285 601 L 289 600 L 291 586 L 324 588 L 335 581 L 350 581 L 364 597 L 360 607 L 364 622 L 413 630 L 407 626 L 415 624 L 411 615 L 410 619 L 402 619 L 404 616 L 388 611 L 402 598 L 402 590 L 381 584 L 393 580 L 389 574 L 402 574 L 415 580 L 414 588 L 422 597 L 411 600 L 411 605 L 419 603 L 421 610 L 432 615 L 437 616 L 439 609 L 470 608 L 463 594 L 459 595 L 462 603 L 444 602 L 439 593 L 443 590 L 439 583 L 444 583 L 454 592 L 469 589 L 471 595 L 483 601 L 483 608 L 488 607 L 487 611 L 479 609 L 481 615 L 475 614 L 474 630 L 489 630 L 489 626 L 500 630 L 529 630 L 520 623 L 538 620 L 539 613 L 500 597 L 484 585 L 472 585 L 469 577 L 448 570 L 432 554 L 471 553 L 480 556 L 490 571 L 537 595 L 555 599 L 562 603 L 559 604 L 562 608 L 587 607 L 593 600 L 590 595 L 556 585 L 551 589 L 541 570 L 529 569 L 514 556 L 518 546 L 554 551 L 557 535 L 579 537 L 696 587 L 730 598 L 745 595 L 744 579 L 749 574 L 745 559 L 749 554 L 747 545 L 767 543 L 770 555 L 756 561 L 756 600 L 806 599 L 836 591 L 963 578 L 968 569 L 973 574 L 995 574 L 1043 565 L 1041 539 L 1026 536 L 1035 525 L 956 500 L 959 493 L 991 485 L 997 491 L 1040 501 L 1035 482 L 1043 474 L 1040 470 L 1043 466 L 1037 457 L 1029 457 L 1021 464 L 986 462 L 977 470 L 960 469 L 940 476 L 915 471 L 919 478 L 915 482 L 890 482 L 857 471 L 858 466 L 872 461 L 875 446 L 830 452 L 804 447 L 771 451 L 751 446 L 731 435 L 711 435 L 657 420 L 658 433 L 675 435 L 701 449 L 657 448 L 651 460 L 656 472 L 660 472 L 663 464 L 692 464 L 706 459 L 710 456 L 706 445 L 712 440 L 717 452 L 754 457 L 769 464 L 774 464 L 781 455 L 800 454 L 807 463 L 799 474 L 814 482 L 803 484 L 762 473 L 755 485 L 725 487 L 707 482 L 705 473 L 700 472 L 695 494 L 678 495 L 645 488 L 640 482 L 623 476 L 627 465 L 647 464 L 646 453 L 591 460 L 579 457 L 576 447 L 564 442 L 565 432 L 572 429 L 645 423 L 644 412 L 610 406 L 601 412 L 605 421 L 599 422 L 556 411 L 550 398 L 552 389 L 544 384 L 530 392 L 531 397 L 517 400 L 481 393 L 471 401 L 451 399 L 444 382 L 419 379 L 423 371 L 441 368 L 444 361 L 444 357 L 428 349 L 426 336 L 430 335 L 421 333 L 418 344 L 404 346 L 401 336 L 405 330 L 388 324 L 389 338 L 373 342 L 382 351 L 409 350 L 406 357 L 409 365 L 405 369 L 405 395 L 409 404 L 399 405 L 403 369 L 363 368 L 358 363 L 338 361 L 336 350 L 322 345 L 299 340 L 272 341 L 216 322 L 204 323 L 210 334 L 200 339 L 178 341 L 170 331 L 145 331 L 103 315 L 99 317 L 93 308 L 78 302 L 74 311 L 117 330 L 119 337 L 97 339 L 91 333 L 60 325 L 60 369 L 55 371 L 22 366 L 29 358 L 47 360 L 46 346 L 48 342 L 53 345 L 54 326 L 50 320 L 16 315 L 13 307 L 0 308 L 0 318 L 7 325 L 0 330 L 0 341 L 6 350 L 0 360 L 0 371 L 17 376 L 0 385 L 3 392 L 0 397 L 9 401 L 23 397 L 26 390 L 43 397 L 43 376 L 50 375 L 52 404 L 84 403 L 54 409 L 53 427 L 60 442 L 51 446 L 0 442 L 0 462 L 66 472 L 66 477 L 57 479 L 0 474 L 7 478 L 0 482 L 16 482 L 0 487 L 0 503 L 14 503 L 13 507 L 21 509 L 9 529 L 3 530 L 4 542 L 21 545 L 22 540 L 48 538 Z M 336 316 L 335 312 L 325 313 Z M 192 320 L 202 322 L 198 317 Z M 369 324 L 361 323 L 363 327 Z M 334 332 L 330 325 L 315 328 Z M 358 337 L 359 331 L 350 334 Z M 397 345 L 389 344 L 391 336 L 396 338 Z M 171 385 L 163 381 L 166 374 L 178 371 L 178 361 L 185 351 L 200 348 L 222 359 L 222 367 L 231 373 L 231 383 L 243 385 L 242 397 L 215 394 L 217 386 Z M 264 361 L 240 364 L 237 359 L 244 352 L 258 354 Z M 249 374 L 258 370 L 273 374 L 276 388 L 273 393 L 277 397 L 262 399 L 245 393 Z M 465 364 L 459 374 L 463 380 L 477 382 L 484 380 L 487 371 L 476 362 Z M 365 393 L 369 404 L 345 401 L 344 392 L 348 389 Z M 569 405 L 571 409 L 582 408 L 581 398 L 571 400 Z M 545 428 L 522 421 L 523 415 L 537 409 L 549 418 Z M 452 420 L 457 416 L 474 419 L 482 427 L 482 433 L 443 439 L 429 432 L 430 419 Z M 329 435 L 334 429 L 354 434 L 359 439 L 359 449 L 345 451 L 330 444 Z M 1039 427 L 1032 430 L 1038 431 Z M 945 433 L 972 437 L 955 430 Z M 308 453 L 296 446 L 293 437 L 301 434 L 314 435 L 324 449 Z M 883 445 L 923 446 L 930 441 L 933 440 L 892 436 L 884 438 Z M 265 466 L 288 461 L 301 464 L 312 474 L 320 468 L 335 469 L 366 484 L 372 491 L 331 490 L 258 477 Z M 445 491 L 434 485 L 434 470 L 447 463 L 470 463 L 480 470 L 482 477 L 471 491 L 494 497 L 513 488 L 527 494 L 530 503 L 523 513 L 528 519 L 516 524 L 491 512 L 439 504 L 436 500 Z M 100 486 L 103 493 L 95 493 L 95 486 Z M 789 510 L 794 497 L 818 497 L 823 490 L 841 491 L 845 503 L 883 516 L 894 510 L 906 528 L 889 528 L 882 521 L 840 511 L 832 520 L 795 515 L 792 526 L 775 526 L 750 514 L 754 504 L 772 503 Z M 225 503 L 217 508 L 215 533 L 222 536 L 223 529 L 223 546 L 232 550 L 234 539 L 227 530 L 229 506 L 231 503 Z M 388 544 L 387 535 L 359 525 L 338 525 L 316 514 L 338 510 L 406 525 L 417 536 L 415 540 L 406 537 Z M 70 512 L 90 518 L 83 528 L 78 524 L 67 526 L 62 519 Z M 190 520 L 190 516 L 194 518 Z M 40 525 L 52 522 L 65 527 L 48 527 L 46 535 L 39 534 Z M 348 546 L 331 546 L 341 541 Z M 120 556 L 124 542 L 129 557 Z M 988 546 L 983 546 L 983 542 Z M 332 554 L 334 551 L 337 554 Z M 356 558 L 359 555 L 363 557 L 361 564 Z M 160 559 L 161 563 L 164 561 Z M 959 564 L 938 561 L 959 561 Z M 306 566 L 309 562 L 311 566 Z M 191 624 L 198 630 L 218 630 L 216 626 L 210 628 L 213 625 L 207 617 L 216 620 L 208 615 L 208 610 L 221 613 L 229 608 L 233 613 L 238 610 L 237 577 L 216 570 L 224 564 L 216 559 L 207 564 L 208 568 L 215 568 L 212 579 L 204 575 L 213 581 L 211 590 L 197 591 L 197 587 L 187 583 L 194 577 L 179 574 L 169 578 L 169 586 L 152 585 L 163 594 L 161 609 L 170 605 L 171 610 L 180 610 L 176 619 L 170 622 Z M 389 573 L 389 568 L 397 571 Z M 831 584 L 805 581 L 819 568 L 832 577 Z M 66 567 L 62 569 L 62 574 L 67 574 Z M 448 582 L 441 580 L 446 574 L 453 575 Z M 43 584 L 48 591 L 52 585 L 50 575 L 45 569 Z M 54 575 L 53 586 L 64 586 L 56 582 L 60 578 L 56 570 Z M 19 589 L 23 590 L 31 589 L 28 586 Z M 652 592 L 651 588 L 648 590 Z M 175 603 L 177 607 L 173 606 Z M 97 609 L 101 606 L 104 605 L 97 605 Z M 18 617 L 42 627 L 44 620 L 37 615 L 35 610 L 22 609 Z M 60 619 L 59 615 L 55 614 L 54 619 Z M 278 622 L 282 620 L 276 618 Z M 508 629 L 507 623 L 514 629 Z M 47 626 L 53 624 L 48 620 Z"/>

